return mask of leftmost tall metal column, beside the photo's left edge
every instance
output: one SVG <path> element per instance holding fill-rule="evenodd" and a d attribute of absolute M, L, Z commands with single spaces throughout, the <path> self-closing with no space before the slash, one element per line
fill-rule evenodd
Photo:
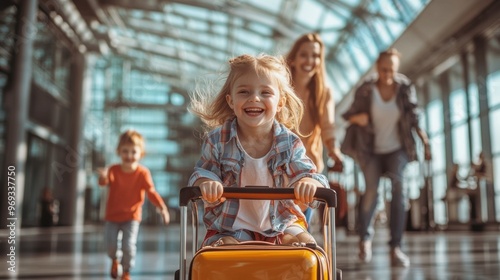
<path fill-rule="evenodd" d="M 21 226 L 25 163 L 27 156 L 26 128 L 28 106 L 31 91 L 33 40 L 36 36 L 37 0 L 22 0 L 18 5 L 18 17 L 12 50 L 11 73 L 9 88 L 5 94 L 6 141 L 4 170 L 2 170 L 1 192 L 4 207 L 0 210 L 2 228 L 9 224 L 8 218 L 16 219 L 16 228 Z M 12 171 L 8 174 L 7 170 Z M 9 184 L 10 182 L 10 184 Z M 7 192 L 7 186 L 15 186 L 15 211 L 10 212 L 7 205 L 12 197 Z"/>

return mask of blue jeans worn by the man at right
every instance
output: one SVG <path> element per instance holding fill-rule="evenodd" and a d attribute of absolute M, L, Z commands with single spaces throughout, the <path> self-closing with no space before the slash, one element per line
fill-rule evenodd
<path fill-rule="evenodd" d="M 401 149 L 388 154 L 374 154 L 361 166 L 365 177 L 365 193 L 359 202 L 358 233 L 361 241 L 372 240 L 374 235 L 373 219 L 377 208 L 380 177 L 388 177 L 392 185 L 390 214 L 391 247 L 401 245 L 406 225 L 406 192 L 403 190 L 403 171 L 408 156 Z"/>

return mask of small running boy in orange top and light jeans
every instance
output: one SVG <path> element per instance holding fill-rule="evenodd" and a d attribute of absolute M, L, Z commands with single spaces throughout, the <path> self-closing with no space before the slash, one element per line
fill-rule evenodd
<path fill-rule="evenodd" d="M 112 260 L 111 277 L 118 277 L 118 233 L 122 232 L 122 280 L 129 280 L 130 269 L 134 266 L 137 234 L 142 219 L 144 193 L 161 211 L 163 222 L 168 224 L 168 208 L 156 192 L 149 170 L 139 164 L 144 156 L 144 138 L 134 130 L 127 130 L 118 142 L 116 152 L 121 164 L 109 169 L 100 169 L 99 185 L 109 186 L 106 204 L 105 241 L 108 256 Z"/>

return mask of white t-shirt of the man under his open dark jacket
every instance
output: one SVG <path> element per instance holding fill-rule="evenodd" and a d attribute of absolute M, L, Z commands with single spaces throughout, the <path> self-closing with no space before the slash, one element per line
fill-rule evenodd
<path fill-rule="evenodd" d="M 401 149 L 398 121 L 401 116 L 396 95 L 385 101 L 378 88 L 373 86 L 371 117 L 375 129 L 375 153 L 387 154 Z"/>

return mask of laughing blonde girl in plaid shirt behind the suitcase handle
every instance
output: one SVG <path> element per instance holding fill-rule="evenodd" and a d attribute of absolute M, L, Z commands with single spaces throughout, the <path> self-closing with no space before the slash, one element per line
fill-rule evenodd
<path fill-rule="evenodd" d="M 291 132 L 298 131 L 303 106 L 290 86 L 284 60 L 241 55 L 229 67 L 219 93 L 198 92 L 190 107 L 212 129 L 189 179 L 189 185 L 200 187 L 205 204 L 204 245 L 314 243 L 304 214 L 291 200 L 222 198 L 225 187 L 265 185 L 294 188 L 296 200 L 310 204 L 316 188 L 328 187 Z"/>

